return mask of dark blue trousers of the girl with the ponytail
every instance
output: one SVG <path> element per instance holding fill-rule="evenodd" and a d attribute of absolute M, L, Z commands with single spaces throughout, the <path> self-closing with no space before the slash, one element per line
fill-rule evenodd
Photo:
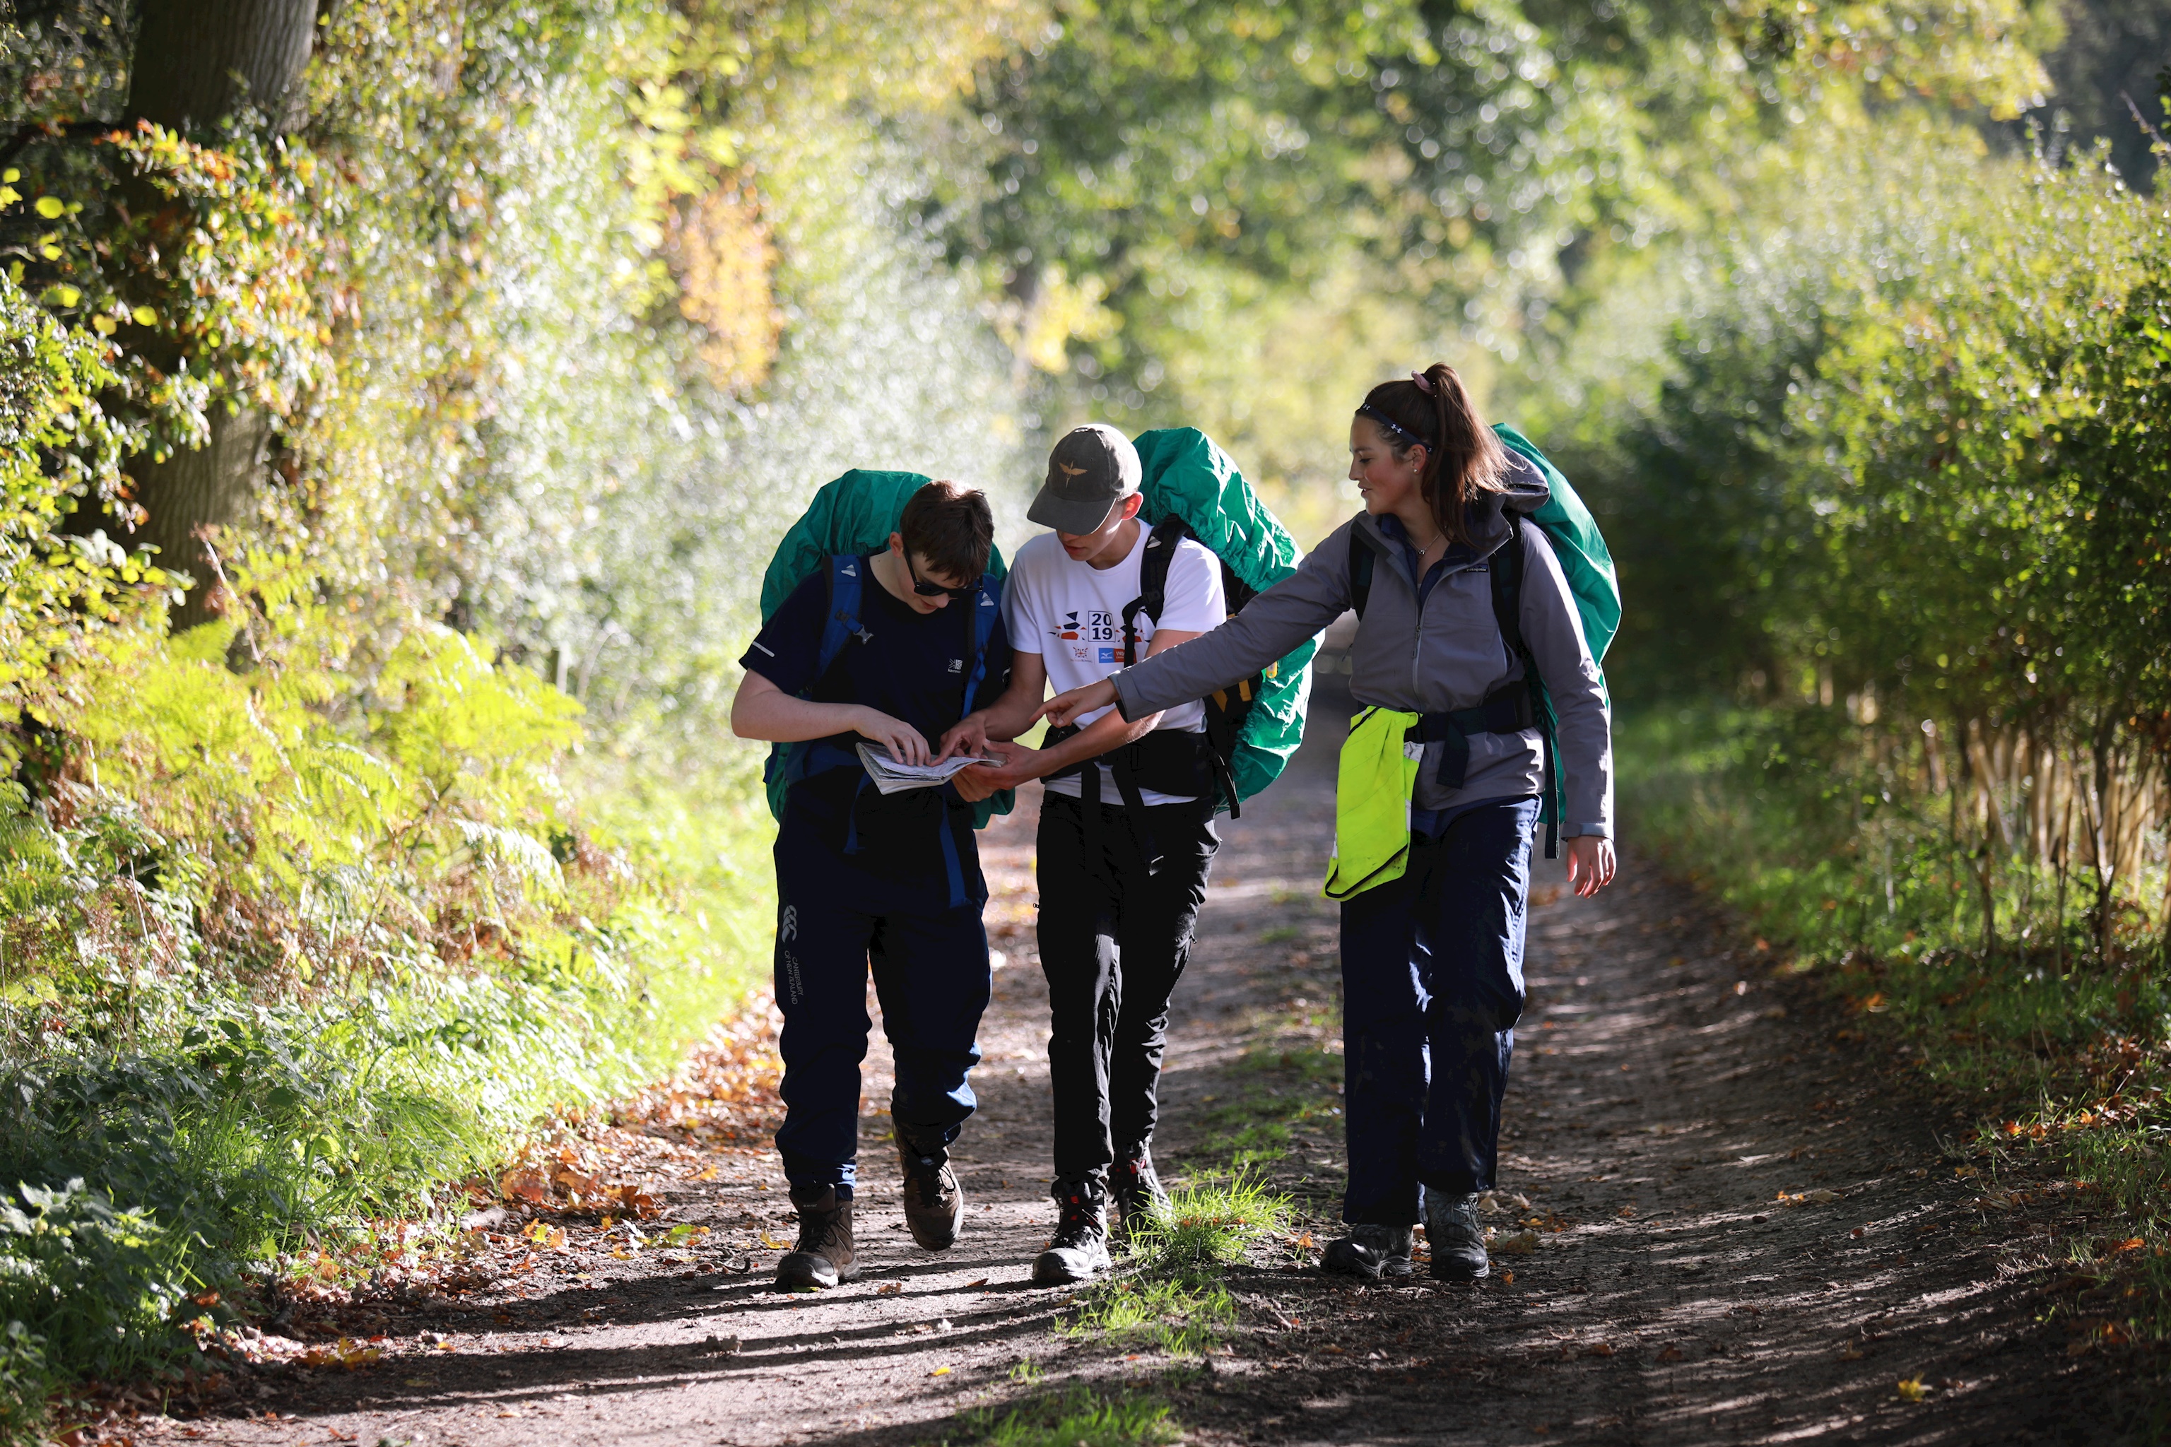
<path fill-rule="evenodd" d="M 1342 905 L 1344 1221 L 1411 1226 L 1420 1182 L 1494 1185 L 1535 824 L 1535 798 L 1478 805 Z"/>

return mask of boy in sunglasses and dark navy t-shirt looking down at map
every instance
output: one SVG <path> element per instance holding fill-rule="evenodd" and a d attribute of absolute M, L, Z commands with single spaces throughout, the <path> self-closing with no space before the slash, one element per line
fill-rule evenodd
<path fill-rule="evenodd" d="M 992 538 L 983 495 L 929 482 L 905 503 L 890 547 L 858 560 L 858 627 L 829 668 L 818 670 L 831 614 L 827 571 L 784 601 L 740 660 L 747 677 L 732 701 L 732 731 L 810 742 L 775 846 L 786 1106 L 777 1152 L 799 1213 L 799 1243 L 777 1263 L 777 1286 L 858 1276 L 851 1198 L 868 965 L 897 1057 L 890 1124 L 903 1156 L 905 1224 L 938 1252 L 964 1217 L 949 1148 L 975 1106 L 966 1072 L 979 1063 L 975 1037 L 990 991 L 973 807 L 949 785 L 881 794 L 858 744 L 873 740 L 901 764 L 927 764 L 929 740 L 964 714 L 975 662 L 979 699 L 1007 688 L 1001 620 L 975 660 L 975 614 L 996 607 L 981 588 Z"/>

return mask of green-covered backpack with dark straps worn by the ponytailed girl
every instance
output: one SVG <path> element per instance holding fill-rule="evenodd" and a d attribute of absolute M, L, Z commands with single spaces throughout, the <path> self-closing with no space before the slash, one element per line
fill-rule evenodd
<path fill-rule="evenodd" d="M 1546 859 L 1559 859 L 1559 833 L 1561 833 L 1561 774 L 1554 764 L 1559 753 L 1559 718 L 1552 712 L 1552 699 L 1546 694 L 1546 681 L 1537 673 L 1537 660 L 1531 657 L 1531 646 L 1522 640 L 1522 527 L 1528 521 L 1539 532 L 1546 534 L 1546 542 L 1552 545 L 1552 553 L 1561 564 L 1561 573 L 1567 579 L 1567 592 L 1576 599 L 1576 614 L 1583 620 L 1583 640 L 1591 649 L 1591 662 L 1598 664 L 1598 688 L 1604 694 L 1604 657 L 1607 646 L 1613 642 L 1613 633 L 1620 631 L 1622 623 L 1622 590 L 1620 579 L 1613 571 L 1613 553 L 1607 549 L 1604 536 L 1598 532 L 1598 518 L 1591 510 L 1583 505 L 1583 499 L 1561 469 L 1537 449 L 1537 443 L 1526 438 L 1515 427 L 1507 423 L 1494 423 L 1494 434 L 1515 453 L 1526 458 L 1539 473 L 1546 475 L 1546 484 L 1552 495 L 1546 505 L 1524 518 L 1522 514 L 1509 512 L 1509 542 L 1498 553 L 1491 566 L 1491 603 L 1494 620 L 1500 625 L 1500 638 L 1509 651 L 1522 660 L 1522 681 L 1509 683 L 1498 690 L 1496 696 L 1487 699 L 1474 709 L 1461 709 L 1450 718 L 1455 731 L 1518 731 L 1535 727 L 1544 740 L 1546 753 L 1546 790 L 1539 801 L 1539 822 L 1546 824 Z M 1363 618 L 1366 601 L 1372 597 L 1372 566 L 1374 553 L 1350 532 L 1350 607 Z M 1433 742 L 1435 733 L 1426 733 L 1424 742 Z"/>

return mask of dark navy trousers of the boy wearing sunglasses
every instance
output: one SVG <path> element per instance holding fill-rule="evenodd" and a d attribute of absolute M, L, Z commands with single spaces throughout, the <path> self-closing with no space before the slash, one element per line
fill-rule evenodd
<path fill-rule="evenodd" d="M 929 842 L 934 850 L 934 842 Z M 914 1154 L 957 1139 L 973 1115 L 966 1072 L 979 1063 L 988 1009 L 988 887 L 966 861 L 968 898 L 949 907 L 940 863 L 903 881 L 842 855 L 790 809 L 777 831 L 777 1009 L 784 1033 L 784 1128 L 777 1152 L 795 1189 L 851 1195 L 860 1154 L 860 1061 L 866 1059 L 866 974 L 875 972 L 881 1030 L 897 1057 L 890 1119 Z M 927 863 L 927 861 L 918 861 Z"/>

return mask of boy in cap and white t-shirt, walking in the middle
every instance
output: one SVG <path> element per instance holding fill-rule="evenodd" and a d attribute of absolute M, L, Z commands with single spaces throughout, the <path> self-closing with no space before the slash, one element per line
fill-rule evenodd
<path fill-rule="evenodd" d="M 1227 616 L 1220 562 L 1177 542 L 1159 618 L 1140 597 L 1151 542 L 1138 521 L 1138 451 L 1094 423 L 1064 436 L 1027 516 L 1055 532 L 1018 549 L 1003 586 L 1010 688 L 942 738 L 942 753 L 988 751 L 1003 768 L 968 768 L 966 798 L 1044 779 L 1040 805 L 1040 968 L 1049 978 L 1049 1076 L 1055 1091 L 1055 1241 L 1033 1263 L 1042 1284 L 1105 1271 L 1107 1208 L 1120 1219 L 1166 1200 L 1153 1174 L 1153 1124 L 1168 1000 L 1190 959 L 1205 898 L 1214 777 L 1198 703 L 1138 722 L 1114 709 L 1051 731 L 1042 748 L 990 744 L 1023 733 L 1044 690 L 1096 683 L 1127 662 L 1196 638 Z M 1125 649 L 1133 657 L 1125 660 Z"/>

